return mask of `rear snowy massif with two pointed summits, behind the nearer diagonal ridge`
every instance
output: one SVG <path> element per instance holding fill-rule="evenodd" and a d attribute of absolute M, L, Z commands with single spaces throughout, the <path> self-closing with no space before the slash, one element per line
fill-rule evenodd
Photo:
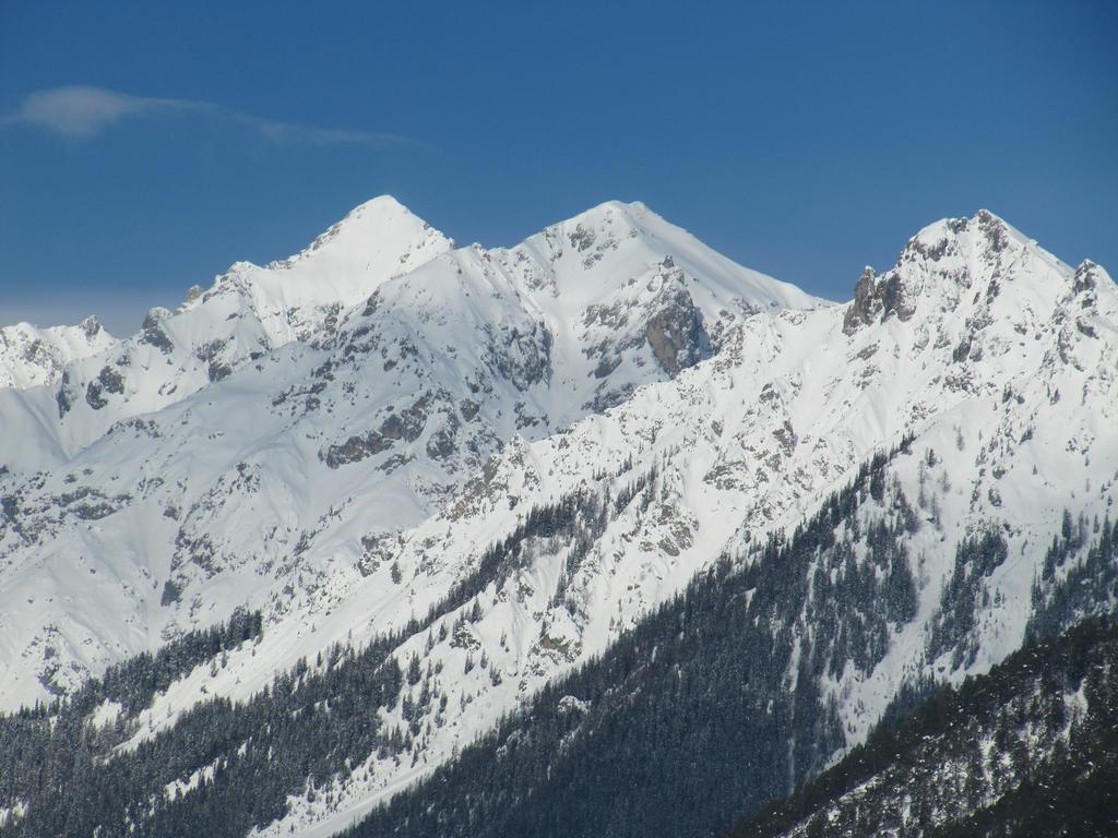
<path fill-rule="evenodd" d="M 304 255 L 153 315 L 100 371 L 0 391 L 21 441 L 0 478 L 4 703 L 239 604 L 305 626 L 318 599 L 387 572 L 396 534 L 506 440 L 678 374 L 745 313 L 819 305 L 638 204 L 512 250 L 443 242 L 378 199 Z M 315 302 L 358 288 L 349 308 Z"/>

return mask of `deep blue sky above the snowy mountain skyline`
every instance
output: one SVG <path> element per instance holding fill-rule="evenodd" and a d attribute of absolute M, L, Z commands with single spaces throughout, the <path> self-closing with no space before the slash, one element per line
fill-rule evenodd
<path fill-rule="evenodd" d="M 643 200 L 832 298 L 983 207 L 1118 273 L 1116 40 L 1112 2 L 0 0 L 0 322 L 131 333 L 385 192 L 493 246 Z"/>

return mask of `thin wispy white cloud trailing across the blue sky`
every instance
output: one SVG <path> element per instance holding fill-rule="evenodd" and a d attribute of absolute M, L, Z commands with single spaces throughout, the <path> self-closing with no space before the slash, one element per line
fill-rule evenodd
<path fill-rule="evenodd" d="M 120 123 L 159 117 L 196 117 L 241 125 L 277 143 L 335 145 L 418 145 L 414 140 L 377 131 L 349 131 L 266 120 L 216 102 L 132 96 L 104 87 L 51 87 L 29 94 L 0 116 L 0 126 L 25 126 L 70 140 L 88 140 Z"/>

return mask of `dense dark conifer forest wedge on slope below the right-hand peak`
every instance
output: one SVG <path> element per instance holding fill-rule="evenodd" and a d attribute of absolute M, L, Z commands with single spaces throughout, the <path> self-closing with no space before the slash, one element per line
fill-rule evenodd
<path fill-rule="evenodd" d="M 641 620 L 599 658 L 549 684 L 453 762 L 347 831 L 347 838 L 436 834 L 709 838 L 787 794 L 844 744 L 835 680 L 881 666 L 896 632 L 919 613 L 917 587 L 926 582 L 919 574 L 920 555 L 909 552 L 910 536 L 932 522 L 921 522 L 917 502 L 906 498 L 903 482 L 893 472 L 896 464 L 918 457 L 911 448 L 874 456 L 788 537 L 767 543 L 746 566 L 723 561 L 698 575 L 681 596 Z M 1107 622 L 1114 625 L 1118 554 L 1112 526 L 1107 522 L 1093 535 L 1091 531 L 1089 524 L 1072 523 L 1068 535 L 1058 531 L 1052 547 L 1039 551 L 1045 565 L 1050 559 L 1061 570 L 1069 560 L 1076 563 L 1076 570 L 1051 590 L 1045 590 L 1051 580 L 1038 581 L 1035 617 L 1050 623 L 1059 615 L 1057 630 L 1090 613 L 1109 615 Z M 1079 561 L 1086 541 L 1091 542 L 1089 555 Z M 968 620 L 980 618 L 987 608 L 985 581 L 1006 553 L 996 528 L 959 545 L 955 564 L 961 572 L 953 573 L 941 612 L 961 629 L 960 639 Z M 1065 594 L 1088 608 L 1067 610 Z M 1052 613 L 1051 606 L 1058 602 L 1058 613 Z M 979 603 L 977 613 L 972 613 L 970 607 Z M 1035 629 L 1038 620 L 1031 622 Z M 938 618 L 934 621 L 932 639 L 942 625 Z M 1070 646 L 1074 651 L 1068 663 L 1081 666 L 1076 661 L 1082 661 L 1089 645 Z M 928 653 L 934 659 L 932 644 Z M 438 676 L 423 676 L 421 668 L 416 669 L 421 676 L 418 689 L 404 698 L 411 715 L 427 693 L 442 702 Z M 1040 670 L 1048 673 L 1046 667 Z M 1084 685 L 1088 705 L 1107 692 L 1099 680 Z M 931 677 L 920 677 L 915 692 L 919 695 L 930 682 Z M 901 819 L 906 812 L 916 815 L 919 803 L 931 803 L 932 811 L 940 808 L 944 813 L 954 810 L 951 816 L 965 813 L 968 804 L 958 799 L 963 778 L 985 798 L 984 803 L 996 802 L 1001 809 L 1004 797 L 1021 791 L 1014 787 L 1027 775 L 1027 763 L 1043 764 L 1053 745 L 1058 751 L 1061 744 L 1069 745 L 1057 760 L 1061 771 L 1072 777 L 1093 772 L 1086 784 L 1114 789 L 1115 779 L 1108 781 L 1107 771 L 1096 762 L 1099 756 L 1106 759 L 1103 764 L 1112 762 L 1112 746 L 1084 749 L 1082 727 L 1070 742 L 1063 730 L 1034 727 L 1014 736 L 1024 715 L 1018 715 L 1021 711 L 1045 716 L 1039 705 L 1051 706 L 1067 697 L 1053 679 L 1040 686 L 1039 695 L 1005 707 L 1010 717 L 998 720 L 994 747 L 982 743 L 979 759 L 991 765 L 993 778 L 960 770 L 961 761 L 951 751 L 958 745 L 973 749 L 974 740 L 957 736 L 963 731 L 953 724 L 947 749 L 932 746 L 939 754 L 946 751 L 946 764 L 929 753 L 932 747 L 921 747 L 926 755 L 915 765 L 906 764 L 901 751 L 897 761 L 902 771 L 915 768 L 919 779 L 900 785 L 887 781 L 869 789 L 864 798 L 852 796 L 847 816 L 870 826 L 865 834 L 894 835 L 888 827 L 898 822 L 898 813 Z M 988 692 L 975 685 L 970 695 L 982 697 L 987 692 L 988 698 L 989 693 L 1004 691 L 1004 684 Z M 1082 706 L 1079 696 L 1071 696 L 1069 715 L 1078 715 Z M 1091 713 L 1105 724 L 1112 710 L 1096 706 Z M 1021 740 L 1025 752 L 1032 751 L 1024 759 Z M 922 746 L 927 741 L 917 739 Z M 877 749 L 870 765 L 888 765 L 897 754 L 887 743 Z M 230 765 L 234 771 L 238 768 Z M 332 790 L 322 787 L 321 774 L 315 783 L 316 799 L 325 793 L 329 802 Z M 942 783 L 942 792 L 937 783 Z M 229 787 L 236 791 L 236 779 Z M 946 807 L 937 800 L 940 793 L 947 798 Z M 970 799 L 973 807 L 976 801 Z M 880 818 L 877 829 L 875 818 Z M 841 818 L 835 826 L 849 820 Z M 830 834 L 819 826 L 816 822 L 808 834 Z M 847 835 L 841 828 L 832 831 Z"/>

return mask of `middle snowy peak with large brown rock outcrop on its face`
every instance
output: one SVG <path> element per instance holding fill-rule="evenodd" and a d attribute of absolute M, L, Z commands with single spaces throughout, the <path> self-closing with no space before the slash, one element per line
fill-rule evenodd
<path fill-rule="evenodd" d="M 549 227 L 492 260 L 530 297 L 555 335 L 557 392 L 601 409 L 661 372 L 717 352 L 728 328 L 760 311 L 821 305 L 795 286 L 742 268 L 641 203 L 610 201 Z M 620 373 L 620 374 L 616 374 Z M 562 402 L 551 412 L 566 425 Z"/>

